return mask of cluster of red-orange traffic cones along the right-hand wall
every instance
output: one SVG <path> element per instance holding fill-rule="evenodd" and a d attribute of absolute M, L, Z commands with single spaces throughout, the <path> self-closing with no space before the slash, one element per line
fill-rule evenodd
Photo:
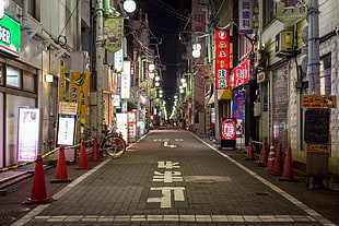
<path fill-rule="evenodd" d="M 252 138 L 249 138 L 248 141 L 247 156 L 245 159 L 255 160 Z M 280 180 L 294 181 L 293 162 L 290 146 L 288 146 L 283 164 L 281 144 L 278 144 L 278 150 L 276 153 L 274 144 L 273 142 L 271 142 L 269 153 L 267 153 L 267 142 L 264 141 L 260 151 L 260 157 L 258 160 L 256 160 L 256 165 L 260 167 L 266 167 L 265 170 L 269 171 L 271 175 L 281 176 Z"/>

